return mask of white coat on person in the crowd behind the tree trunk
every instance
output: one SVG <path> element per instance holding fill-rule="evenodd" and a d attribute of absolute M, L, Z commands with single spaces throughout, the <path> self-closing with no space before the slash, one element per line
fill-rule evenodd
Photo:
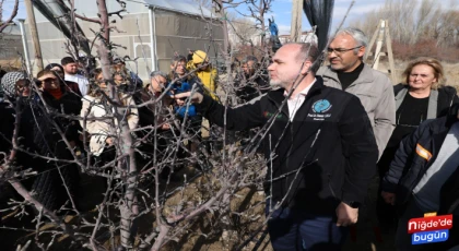
<path fill-rule="evenodd" d="M 134 101 L 132 98 L 126 97 L 126 104 L 134 106 Z M 92 118 L 104 118 L 107 117 L 107 108 L 108 104 L 104 104 L 99 97 L 93 97 L 90 95 L 84 96 L 82 99 L 83 106 L 80 111 L 80 116 L 85 118 L 86 121 L 80 120 L 81 127 L 86 129 L 86 131 L 91 134 L 90 139 L 90 150 L 95 156 L 99 156 L 104 151 L 106 145 L 105 140 L 113 133 L 110 130 L 111 119 L 107 118 L 105 120 L 91 120 Z M 109 109 L 109 108 L 108 108 Z M 127 115 L 127 121 L 129 129 L 137 128 L 139 123 L 139 116 L 137 108 L 130 108 L 129 113 Z M 84 124 L 86 123 L 86 124 Z M 117 120 L 115 120 L 115 125 L 119 124 Z"/>

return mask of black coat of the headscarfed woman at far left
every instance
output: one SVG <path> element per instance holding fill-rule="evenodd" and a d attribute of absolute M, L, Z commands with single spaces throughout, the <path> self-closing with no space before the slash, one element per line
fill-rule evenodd
<path fill-rule="evenodd" d="M 14 130 L 16 105 L 21 111 L 19 123 L 17 144 L 21 150 L 15 155 L 15 166 L 23 170 L 32 168 L 37 176 L 22 180 L 22 183 L 30 191 L 35 191 L 34 198 L 48 210 L 58 210 L 69 200 L 67 190 L 62 189 L 62 178 L 72 195 L 76 194 L 79 180 L 78 169 L 74 165 L 62 165 L 59 162 L 49 162 L 42 156 L 55 157 L 58 159 L 69 159 L 67 146 L 60 138 L 55 136 L 55 125 L 51 123 L 52 115 L 48 115 L 38 98 L 21 98 L 11 100 L 12 106 L 2 106 L 2 125 L 8 121 L 11 133 Z M 2 104 L 3 105 L 3 104 Z M 3 131 L 3 130 L 2 130 Z M 12 140 L 12 134 L 9 140 Z M 8 152 L 12 150 L 9 143 Z M 57 167 L 60 166 L 58 171 Z M 62 178 L 61 178 L 62 176 Z"/>

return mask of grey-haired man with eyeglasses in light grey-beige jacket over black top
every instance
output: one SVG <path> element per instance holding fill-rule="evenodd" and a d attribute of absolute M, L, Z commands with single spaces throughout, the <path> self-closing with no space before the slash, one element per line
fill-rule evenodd
<path fill-rule="evenodd" d="M 390 80 L 363 62 L 368 38 L 357 28 L 337 32 L 327 48 L 330 65 L 318 75 L 323 84 L 357 96 L 364 106 L 378 144 L 379 157 L 396 124 L 396 101 Z"/>

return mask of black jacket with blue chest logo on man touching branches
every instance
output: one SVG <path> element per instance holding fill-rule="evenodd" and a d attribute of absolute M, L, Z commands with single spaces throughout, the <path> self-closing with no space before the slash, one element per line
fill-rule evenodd
<path fill-rule="evenodd" d="M 360 99 L 325 86 L 317 77 L 290 123 L 287 104 L 280 108 L 283 93 L 271 91 L 250 104 L 228 109 L 226 116 L 228 130 L 273 121 L 263 139 L 267 195 L 272 191 L 273 202 L 286 196 L 284 206 L 327 215 L 334 214 L 340 201 L 363 202 L 376 170 L 378 148 Z M 204 96 L 197 107 L 209 120 L 223 125 L 224 106 Z M 272 159 L 270 150 L 274 152 Z"/>

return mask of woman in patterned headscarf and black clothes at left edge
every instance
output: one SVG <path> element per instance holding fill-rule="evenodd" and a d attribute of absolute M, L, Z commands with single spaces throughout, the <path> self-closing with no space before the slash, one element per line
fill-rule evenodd
<path fill-rule="evenodd" d="M 33 196 L 46 208 L 58 210 L 69 198 L 61 189 L 62 180 L 57 170 L 57 166 L 61 164 L 32 155 L 54 156 L 50 146 L 56 144 L 56 141 L 47 135 L 47 131 L 52 128 L 49 115 L 42 109 L 39 99 L 32 92 L 31 81 L 24 73 L 7 73 L 1 85 L 8 99 L 8 105 L 3 103 L 1 106 L 1 132 L 4 142 L 8 143 L 3 151 L 8 154 L 13 148 L 11 144 L 14 140 L 13 132 L 19 129 L 15 139 L 19 146 L 14 158 L 15 166 L 22 170 L 31 168 L 37 172 L 37 176 L 24 179 L 22 182 L 30 191 L 34 191 Z M 15 128 L 16 122 L 17 128 Z M 70 191 L 73 191 L 70 183 L 75 180 L 70 172 L 69 168 L 61 168 L 66 183 Z"/>

